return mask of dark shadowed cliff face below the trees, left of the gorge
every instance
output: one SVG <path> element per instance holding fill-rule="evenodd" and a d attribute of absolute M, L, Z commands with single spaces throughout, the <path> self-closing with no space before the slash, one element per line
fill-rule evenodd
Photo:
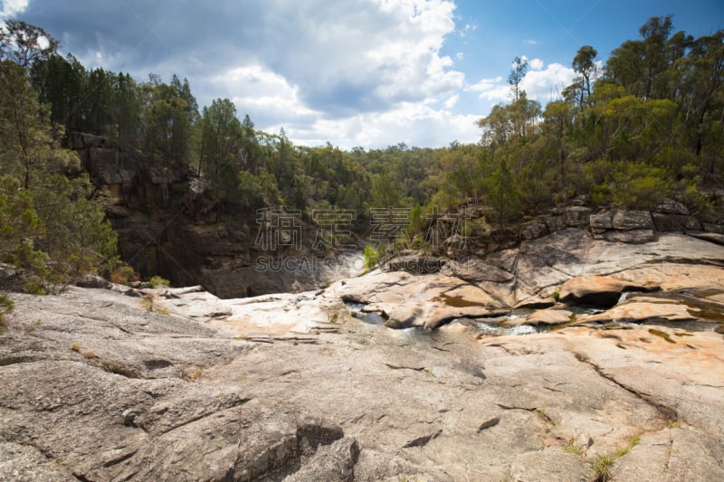
<path fill-rule="evenodd" d="M 264 220 L 223 213 L 187 165 L 120 152 L 89 134 L 74 133 L 69 146 L 110 194 L 121 257 L 144 278 L 158 274 L 176 286 L 201 284 L 221 298 L 238 298 L 310 289 L 357 269 L 310 250 L 316 231 L 301 217 L 293 228 L 306 241 L 302 249 L 270 250 L 260 241 Z"/>

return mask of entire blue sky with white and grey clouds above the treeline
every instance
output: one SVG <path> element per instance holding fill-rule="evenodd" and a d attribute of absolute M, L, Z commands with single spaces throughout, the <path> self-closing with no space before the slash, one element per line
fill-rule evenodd
<path fill-rule="evenodd" d="M 670 0 L 4 0 L 0 21 L 45 28 L 87 67 L 186 77 L 204 106 L 232 99 L 257 128 L 351 148 L 476 142 L 475 120 L 523 87 L 545 104 L 590 44 L 605 62 L 652 16 L 724 28 L 724 2 Z"/>

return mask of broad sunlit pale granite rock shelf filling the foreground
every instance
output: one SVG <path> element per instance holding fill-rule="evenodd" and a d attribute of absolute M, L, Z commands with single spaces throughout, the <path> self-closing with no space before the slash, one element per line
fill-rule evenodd
<path fill-rule="evenodd" d="M 724 479 L 719 244 L 567 229 L 437 266 L 13 295 L 0 478 Z"/>

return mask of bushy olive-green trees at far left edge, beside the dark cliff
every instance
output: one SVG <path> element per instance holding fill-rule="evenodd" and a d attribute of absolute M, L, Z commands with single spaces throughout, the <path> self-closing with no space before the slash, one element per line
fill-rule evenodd
<path fill-rule="evenodd" d="M 62 149 L 24 69 L 0 64 L 0 260 L 25 291 L 43 293 L 117 260 L 105 201 Z M 20 288 L 20 287 L 14 287 Z"/>

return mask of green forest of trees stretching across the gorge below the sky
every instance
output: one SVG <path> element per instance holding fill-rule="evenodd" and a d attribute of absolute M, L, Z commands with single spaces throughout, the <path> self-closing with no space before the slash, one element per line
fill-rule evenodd
<path fill-rule="evenodd" d="M 370 208 L 393 206 L 422 233 L 424 213 L 465 204 L 491 225 L 515 225 L 581 194 L 625 208 L 676 198 L 704 213 L 721 186 L 724 31 L 693 38 L 671 16 L 650 19 L 606 60 L 580 47 L 576 81 L 545 106 L 521 89 L 528 66 L 516 58 L 510 102 L 481 117 L 481 141 L 436 149 L 294 146 L 283 129 L 256 130 L 229 99 L 200 108 L 176 75 L 88 70 L 58 46 L 22 22 L 0 31 L 0 260 L 31 290 L 121 266 L 103 218 L 109 194 L 66 148 L 77 132 L 105 137 L 119 164 L 183 173 L 214 213 L 251 225 L 262 208 L 307 221 L 338 208 L 355 211 L 361 230 Z"/>

